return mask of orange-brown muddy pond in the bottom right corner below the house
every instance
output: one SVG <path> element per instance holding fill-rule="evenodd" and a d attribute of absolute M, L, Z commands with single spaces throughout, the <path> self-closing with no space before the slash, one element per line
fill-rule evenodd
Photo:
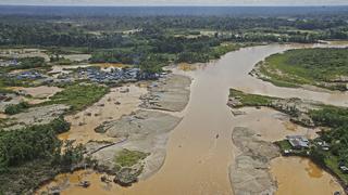
<path fill-rule="evenodd" d="M 307 158 L 278 157 L 271 161 L 277 195 L 330 195 L 343 188 L 335 179 Z"/>

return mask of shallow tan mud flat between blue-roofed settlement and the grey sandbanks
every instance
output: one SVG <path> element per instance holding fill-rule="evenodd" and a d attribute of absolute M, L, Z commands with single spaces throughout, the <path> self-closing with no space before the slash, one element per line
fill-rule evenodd
<path fill-rule="evenodd" d="M 122 93 L 124 89 L 129 92 Z M 66 116 L 71 122 L 71 130 L 59 135 L 61 140 L 76 140 L 75 143 L 87 143 L 88 141 L 116 141 L 111 138 L 96 133 L 95 128 L 107 120 L 117 119 L 122 115 L 128 115 L 138 108 L 139 96 L 147 92 L 146 88 L 135 84 L 122 88 L 113 88 L 99 102 L 76 115 Z"/>

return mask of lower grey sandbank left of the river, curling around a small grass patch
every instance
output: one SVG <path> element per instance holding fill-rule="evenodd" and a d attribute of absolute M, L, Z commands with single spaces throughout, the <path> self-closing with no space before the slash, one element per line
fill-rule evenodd
<path fill-rule="evenodd" d="M 179 121 L 181 118 L 169 114 L 137 110 L 117 120 L 104 122 L 98 128 L 99 132 L 105 133 L 109 138 L 124 140 L 124 142 L 102 148 L 94 153 L 91 158 L 98 161 L 97 169 L 115 174 L 121 183 L 130 185 L 133 182 L 125 181 L 124 176 L 121 176 L 120 171 L 124 168 L 123 166 L 121 166 L 121 170 L 114 171 L 117 166 L 116 154 L 122 150 L 148 154 L 144 160 L 138 160 L 135 165 L 132 165 L 130 169 L 134 173 L 126 177 L 133 177 L 135 181 L 149 178 L 163 165 L 169 132 Z"/>

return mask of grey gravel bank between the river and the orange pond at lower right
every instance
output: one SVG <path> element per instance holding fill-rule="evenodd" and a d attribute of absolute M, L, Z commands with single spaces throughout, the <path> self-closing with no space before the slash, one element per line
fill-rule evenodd
<path fill-rule="evenodd" d="M 234 194 L 274 194 L 276 183 L 269 167 L 271 159 L 279 155 L 278 148 L 262 141 L 253 130 L 241 127 L 234 128 L 232 141 L 239 151 L 229 168 Z"/>

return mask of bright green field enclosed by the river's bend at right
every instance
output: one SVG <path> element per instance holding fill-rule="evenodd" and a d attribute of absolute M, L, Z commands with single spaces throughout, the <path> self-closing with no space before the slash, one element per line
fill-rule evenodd
<path fill-rule="evenodd" d="M 265 80 L 281 87 L 318 86 L 346 90 L 348 49 L 297 49 L 271 55 L 260 66 Z"/>

